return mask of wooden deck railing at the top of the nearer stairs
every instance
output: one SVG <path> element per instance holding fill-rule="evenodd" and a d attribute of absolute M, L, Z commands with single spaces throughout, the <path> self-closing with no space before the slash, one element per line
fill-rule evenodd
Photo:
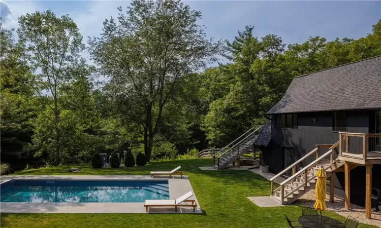
<path fill-rule="evenodd" d="M 347 140 L 342 140 L 346 137 Z M 381 134 L 339 133 L 339 154 L 361 159 L 381 157 Z"/>

